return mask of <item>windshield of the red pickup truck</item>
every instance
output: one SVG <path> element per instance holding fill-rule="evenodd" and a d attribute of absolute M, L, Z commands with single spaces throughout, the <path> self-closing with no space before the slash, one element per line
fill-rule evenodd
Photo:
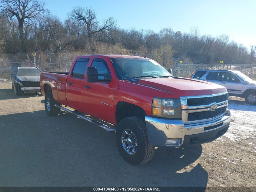
<path fill-rule="evenodd" d="M 171 74 L 154 60 L 136 58 L 112 58 L 118 79 L 140 76 L 171 76 Z"/>

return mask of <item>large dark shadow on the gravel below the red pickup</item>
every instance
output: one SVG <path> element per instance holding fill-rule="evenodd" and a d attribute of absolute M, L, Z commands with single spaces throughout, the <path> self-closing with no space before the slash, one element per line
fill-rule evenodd
<path fill-rule="evenodd" d="M 26 121 L 24 121 L 26 120 Z M 61 111 L 0 116 L 1 186 L 197 186 L 208 173 L 194 163 L 202 146 L 157 148 L 153 159 L 132 166 L 122 159 L 115 132 Z"/>

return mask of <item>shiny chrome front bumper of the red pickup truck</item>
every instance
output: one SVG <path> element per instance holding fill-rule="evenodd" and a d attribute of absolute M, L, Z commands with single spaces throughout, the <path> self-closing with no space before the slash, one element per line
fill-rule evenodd
<path fill-rule="evenodd" d="M 204 123 L 183 123 L 182 120 L 159 119 L 151 116 L 146 116 L 145 120 L 151 145 L 181 147 L 183 143 L 186 145 L 191 143 L 185 141 L 186 139 L 194 140 L 192 144 L 207 143 L 217 139 L 228 130 L 231 115 L 227 109 L 224 116 Z M 180 139 L 180 142 L 170 145 L 166 144 L 167 139 Z"/>

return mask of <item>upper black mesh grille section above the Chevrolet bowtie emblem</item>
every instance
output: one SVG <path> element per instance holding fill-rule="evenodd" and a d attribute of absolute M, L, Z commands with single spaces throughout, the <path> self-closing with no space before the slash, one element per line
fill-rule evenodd
<path fill-rule="evenodd" d="M 201 98 L 191 98 L 187 99 L 188 106 L 200 106 L 200 105 L 208 105 L 211 103 L 221 103 L 223 101 L 228 100 L 228 94 L 218 95 L 212 97 L 201 97 Z"/>

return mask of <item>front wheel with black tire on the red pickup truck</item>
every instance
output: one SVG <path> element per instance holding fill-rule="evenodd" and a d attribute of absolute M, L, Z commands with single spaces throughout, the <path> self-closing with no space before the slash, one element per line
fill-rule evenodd
<path fill-rule="evenodd" d="M 118 123 L 116 143 L 121 156 L 132 165 L 147 163 L 155 153 L 148 142 L 145 120 L 140 117 L 127 117 Z"/>

